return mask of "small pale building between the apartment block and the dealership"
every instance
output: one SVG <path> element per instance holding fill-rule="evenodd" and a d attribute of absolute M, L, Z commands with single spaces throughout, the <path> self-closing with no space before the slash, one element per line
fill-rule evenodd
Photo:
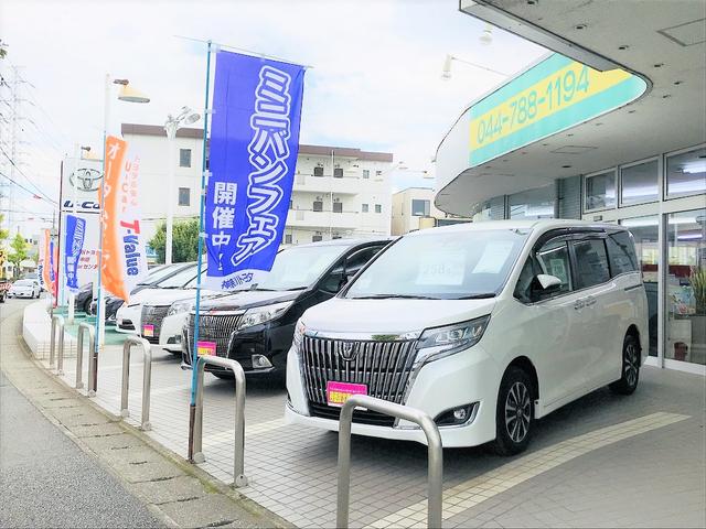
<path fill-rule="evenodd" d="M 434 205 L 435 191 L 429 187 L 407 187 L 393 195 L 392 235 L 405 235 L 417 229 L 468 223 L 469 218 L 449 215 Z"/>

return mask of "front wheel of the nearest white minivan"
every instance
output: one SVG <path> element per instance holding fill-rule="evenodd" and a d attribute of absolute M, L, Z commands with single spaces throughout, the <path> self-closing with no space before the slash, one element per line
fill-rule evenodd
<path fill-rule="evenodd" d="M 530 444 L 534 422 L 533 384 L 521 368 L 511 366 L 503 375 L 495 409 L 495 441 L 498 455 L 515 455 Z"/>

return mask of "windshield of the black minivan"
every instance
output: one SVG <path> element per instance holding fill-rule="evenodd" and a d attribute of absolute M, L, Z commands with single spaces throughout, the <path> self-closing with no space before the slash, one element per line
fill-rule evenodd
<path fill-rule="evenodd" d="M 300 246 L 277 253 L 257 290 L 300 290 L 311 285 L 349 248 L 345 245 Z"/>

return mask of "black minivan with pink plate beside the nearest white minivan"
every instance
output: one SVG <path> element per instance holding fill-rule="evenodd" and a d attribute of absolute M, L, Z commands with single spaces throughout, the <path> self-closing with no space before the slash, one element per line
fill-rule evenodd
<path fill-rule="evenodd" d="M 238 360 L 248 375 L 284 378 L 295 325 L 310 306 L 333 298 L 391 239 L 333 239 L 287 248 L 267 278 L 246 291 L 203 301 L 200 354 Z M 182 331 L 182 368 L 191 368 L 195 312 Z M 229 370 L 206 365 L 218 378 Z"/>

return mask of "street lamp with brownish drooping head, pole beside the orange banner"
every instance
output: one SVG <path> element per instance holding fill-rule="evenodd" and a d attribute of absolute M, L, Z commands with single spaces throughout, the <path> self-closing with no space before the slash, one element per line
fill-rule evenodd
<path fill-rule="evenodd" d="M 100 180 L 100 207 L 105 207 L 106 198 L 106 140 L 108 138 L 108 120 L 110 119 L 110 85 L 120 85 L 118 99 L 126 102 L 150 102 L 150 98 L 139 90 L 130 86 L 128 79 L 113 79 L 110 74 L 106 74 L 105 79 L 105 99 L 103 107 L 103 179 Z M 103 209 L 100 212 L 100 222 L 98 223 L 98 299 L 96 302 L 96 348 L 94 353 L 97 355 L 98 349 L 106 341 L 106 325 L 103 316 L 106 310 L 106 300 L 103 295 Z"/>

